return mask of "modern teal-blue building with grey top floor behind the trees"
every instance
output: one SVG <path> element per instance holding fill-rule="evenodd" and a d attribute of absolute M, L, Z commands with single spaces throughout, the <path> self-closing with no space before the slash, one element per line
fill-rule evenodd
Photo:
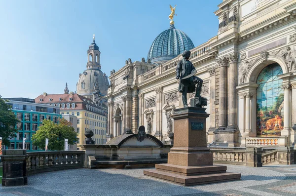
<path fill-rule="evenodd" d="M 28 152 L 40 150 L 33 145 L 32 136 L 36 133 L 38 127 L 42 125 L 44 119 L 57 123 L 58 119 L 62 118 L 60 109 L 51 105 L 23 101 L 9 100 L 6 103 L 12 106 L 12 111 L 20 121 L 15 125 L 16 137 L 10 140 L 10 144 L 6 146 L 6 149 L 23 149 L 23 138 L 26 138 L 25 150 Z"/>

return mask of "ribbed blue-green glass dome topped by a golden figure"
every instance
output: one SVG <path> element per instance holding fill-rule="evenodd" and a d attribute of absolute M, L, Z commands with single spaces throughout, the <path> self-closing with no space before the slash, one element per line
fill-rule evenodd
<path fill-rule="evenodd" d="M 148 59 L 152 63 L 161 64 L 192 48 L 194 45 L 191 39 L 183 31 L 171 25 L 154 39 L 148 52 Z"/>

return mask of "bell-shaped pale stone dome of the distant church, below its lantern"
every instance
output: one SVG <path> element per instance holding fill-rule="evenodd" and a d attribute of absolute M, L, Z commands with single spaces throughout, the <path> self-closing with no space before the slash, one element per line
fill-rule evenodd
<path fill-rule="evenodd" d="M 107 94 L 107 88 L 109 81 L 106 74 L 98 68 L 90 68 L 85 70 L 82 74 L 79 74 L 77 82 L 77 93 L 79 95 L 90 97 L 95 92 L 96 82 L 99 86 L 99 90 L 103 95 Z"/>

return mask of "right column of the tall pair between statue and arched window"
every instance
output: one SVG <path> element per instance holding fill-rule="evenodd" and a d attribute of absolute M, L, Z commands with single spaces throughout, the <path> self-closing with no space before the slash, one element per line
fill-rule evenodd
<path fill-rule="evenodd" d="M 237 129 L 237 58 L 236 52 L 228 56 L 228 128 L 233 129 Z"/>

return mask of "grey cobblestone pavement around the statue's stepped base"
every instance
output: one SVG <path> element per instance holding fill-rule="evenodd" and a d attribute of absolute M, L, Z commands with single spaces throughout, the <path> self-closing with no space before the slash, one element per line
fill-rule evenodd
<path fill-rule="evenodd" d="M 144 176 L 144 169 L 73 169 L 28 177 L 28 186 L 0 187 L 0 196 L 294 196 L 296 165 L 227 165 L 240 181 L 183 187 Z"/>

